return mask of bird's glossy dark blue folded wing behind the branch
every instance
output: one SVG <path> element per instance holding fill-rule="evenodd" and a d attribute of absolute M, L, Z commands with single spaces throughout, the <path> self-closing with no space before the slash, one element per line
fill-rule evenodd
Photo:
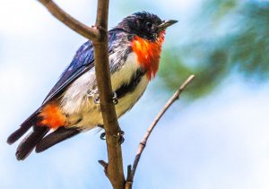
<path fill-rule="evenodd" d="M 116 38 L 116 32 L 108 33 L 108 53 L 112 50 L 113 41 Z M 48 100 L 58 97 L 62 91 L 72 82 L 74 82 L 83 73 L 91 70 L 94 67 L 94 56 L 92 42 L 85 42 L 82 47 L 80 47 L 71 64 L 65 69 L 64 73 L 60 76 L 56 85 L 48 92 L 48 96 L 44 100 L 43 104 L 48 102 Z"/>

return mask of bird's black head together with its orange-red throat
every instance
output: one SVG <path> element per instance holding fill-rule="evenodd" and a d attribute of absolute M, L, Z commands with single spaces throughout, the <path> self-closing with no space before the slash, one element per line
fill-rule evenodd
<path fill-rule="evenodd" d="M 165 30 L 176 22 L 162 21 L 155 14 L 140 12 L 127 16 L 115 28 L 128 33 L 132 51 L 149 80 L 152 80 L 159 68 Z"/>

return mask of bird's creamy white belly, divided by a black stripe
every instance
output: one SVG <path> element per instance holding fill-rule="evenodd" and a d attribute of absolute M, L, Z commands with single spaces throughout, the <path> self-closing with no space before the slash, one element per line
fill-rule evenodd
<path fill-rule="evenodd" d="M 109 56 L 109 58 L 113 58 Z M 139 68 L 134 53 L 128 56 L 126 63 L 120 71 L 111 75 L 112 90 L 117 90 L 123 82 L 130 82 L 131 76 Z M 94 90 L 96 85 L 94 70 L 84 73 L 65 91 L 61 107 L 63 112 L 68 115 L 69 126 L 77 126 L 85 130 L 102 125 L 103 120 L 100 113 L 100 106 L 94 103 L 92 97 L 87 92 Z M 128 109 L 134 106 L 135 102 L 143 95 L 143 91 L 148 85 L 146 75 L 143 75 L 135 90 L 126 93 L 118 99 L 116 107 L 117 117 L 122 116 Z"/>

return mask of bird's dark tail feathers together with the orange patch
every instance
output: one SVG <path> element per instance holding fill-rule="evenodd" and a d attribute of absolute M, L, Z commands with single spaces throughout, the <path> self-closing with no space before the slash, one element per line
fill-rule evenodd
<path fill-rule="evenodd" d="M 36 152 L 47 150 L 56 143 L 62 142 L 81 132 L 76 127 L 65 127 L 61 122 L 63 117 L 59 117 L 56 107 L 51 107 L 50 105 L 50 107 L 42 107 L 42 109 L 37 110 L 25 120 L 20 128 L 13 132 L 7 139 L 7 143 L 13 144 L 32 127 L 32 131 L 20 142 L 16 151 L 16 158 L 18 160 L 26 159 L 34 148 L 36 148 Z M 48 133 L 51 129 L 55 131 Z M 46 135 L 47 133 L 48 135 Z"/>

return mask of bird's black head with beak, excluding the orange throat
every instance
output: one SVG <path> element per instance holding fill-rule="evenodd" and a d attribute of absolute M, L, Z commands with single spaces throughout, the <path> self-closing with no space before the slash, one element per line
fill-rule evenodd
<path fill-rule="evenodd" d="M 116 28 L 126 30 L 130 34 L 143 39 L 157 40 L 162 33 L 172 24 L 178 21 L 162 21 L 157 15 L 147 12 L 133 13 L 117 24 Z"/>

